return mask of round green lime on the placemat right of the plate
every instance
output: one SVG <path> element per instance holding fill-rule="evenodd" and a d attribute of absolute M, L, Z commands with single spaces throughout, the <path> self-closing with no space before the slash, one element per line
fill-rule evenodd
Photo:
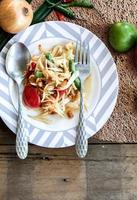
<path fill-rule="evenodd" d="M 118 52 L 126 52 L 137 41 L 137 29 L 128 22 L 114 23 L 109 30 L 109 42 Z"/>

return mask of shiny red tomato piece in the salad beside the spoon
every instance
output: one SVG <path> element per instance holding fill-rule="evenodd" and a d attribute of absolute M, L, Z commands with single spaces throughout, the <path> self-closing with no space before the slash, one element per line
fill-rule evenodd
<path fill-rule="evenodd" d="M 40 107 L 40 96 L 37 88 L 27 85 L 23 91 L 23 100 L 26 106 L 30 108 Z"/>

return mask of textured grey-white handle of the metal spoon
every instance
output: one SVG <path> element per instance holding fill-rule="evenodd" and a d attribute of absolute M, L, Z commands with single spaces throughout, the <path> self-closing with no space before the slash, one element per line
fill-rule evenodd
<path fill-rule="evenodd" d="M 25 159 L 28 155 L 29 132 L 23 119 L 21 101 L 19 99 L 18 122 L 16 131 L 16 152 L 20 159 Z"/>

